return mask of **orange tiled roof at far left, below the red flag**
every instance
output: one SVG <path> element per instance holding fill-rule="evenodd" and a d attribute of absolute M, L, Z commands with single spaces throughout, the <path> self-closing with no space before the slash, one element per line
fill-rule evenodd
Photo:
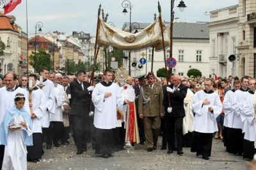
<path fill-rule="evenodd" d="M 0 12 L 0 30 L 10 30 L 19 32 L 14 20 L 13 24 L 11 24 L 10 19 L 12 19 L 11 15 L 7 16 Z"/>

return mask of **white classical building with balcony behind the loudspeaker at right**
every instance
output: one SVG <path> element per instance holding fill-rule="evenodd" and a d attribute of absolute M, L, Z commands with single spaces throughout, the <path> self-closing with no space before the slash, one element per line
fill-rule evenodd
<path fill-rule="evenodd" d="M 228 56 L 237 54 L 238 4 L 214 10 L 207 24 L 210 32 L 209 72 L 218 77 L 232 75 L 232 63 Z"/>

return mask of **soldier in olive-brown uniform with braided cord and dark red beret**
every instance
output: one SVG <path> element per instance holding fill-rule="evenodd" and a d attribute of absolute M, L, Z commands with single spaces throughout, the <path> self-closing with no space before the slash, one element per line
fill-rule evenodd
<path fill-rule="evenodd" d="M 145 139 L 148 151 L 156 150 L 160 134 L 161 120 L 164 116 L 163 89 L 154 84 L 154 73 L 148 73 L 148 84 L 140 89 L 139 116 L 144 121 Z"/>

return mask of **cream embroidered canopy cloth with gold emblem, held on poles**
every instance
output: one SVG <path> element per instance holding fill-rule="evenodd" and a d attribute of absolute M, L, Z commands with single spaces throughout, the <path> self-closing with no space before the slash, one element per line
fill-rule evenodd
<path fill-rule="evenodd" d="M 169 29 L 170 31 L 170 29 Z M 168 25 L 163 23 L 164 47 L 170 45 Z M 111 45 L 123 50 L 141 50 L 154 45 L 155 50 L 163 50 L 159 17 L 150 26 L 139 33 L 127 33 L 110 26 L 100 19 L 98 42 L 100 45 Z"/>

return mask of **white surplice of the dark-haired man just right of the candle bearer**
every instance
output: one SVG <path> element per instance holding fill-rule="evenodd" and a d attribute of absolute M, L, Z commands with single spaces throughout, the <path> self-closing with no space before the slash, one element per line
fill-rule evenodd
<path fill-rule="evenodd" d="M 44 87 L 42 90 L 45 94 L 46 108 L 47 110 L 44 112 L 44 116 L 42 117 L 42 127 L 48 128 L 50 125 L 50 114 L 55 113 L 55 97 L 54 97 L 54 84 L 52 81 L 48 79 L 43 82 Z M 39 81 L 36 81 L 36 85 L 39 87 Z"/>

